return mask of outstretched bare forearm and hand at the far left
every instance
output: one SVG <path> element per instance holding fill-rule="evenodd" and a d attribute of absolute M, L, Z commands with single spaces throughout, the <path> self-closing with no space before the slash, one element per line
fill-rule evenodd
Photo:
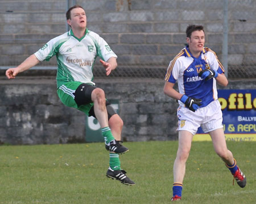
<path fill-rule="evenodd" d="M 23 63 L 16 68 L 7 69 L 5 75 L 9 79 L 15 78 L 18 73 L 24 72 L 25 70 L 30 69 L 32 66 L 35 66 L 38 63 L 40 63 L 40 61 L 33 54 L 29 56 L 26 60 L 24 60 Z"/>

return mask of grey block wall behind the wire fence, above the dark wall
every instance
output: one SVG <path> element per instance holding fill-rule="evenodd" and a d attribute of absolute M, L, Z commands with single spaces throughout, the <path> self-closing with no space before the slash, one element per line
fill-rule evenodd
<path fill-rule="evenodd" d="M 65 32 L 65 2 L 0 1 L 0 66 L 18 65 Z M 205 26 L 206 45 L 222 61 L 222 0 L 76 2 L 86 10 L 89 30 L 100 34 L 117 53 L 119 66 L 166 68 L 184 47 L 185 28 L 192 23 Z M 256 76 L 255 11 L 256 1 L 229 1 L 230 77 Z M 56 65 L 56 60 L 43 65 Z"/>

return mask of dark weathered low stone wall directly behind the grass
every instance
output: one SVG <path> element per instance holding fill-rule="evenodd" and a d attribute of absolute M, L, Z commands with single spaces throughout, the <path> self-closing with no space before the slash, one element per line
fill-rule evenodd
<path fill-rule="evenodd" d="M 29 71 L 28 71 L 29 72 Z M 177 103 L 163 94 L 163 80 L 96 80 L 108 99 L 119 100 L 125 141 L 176 140 Z M 255 89 L 255 80 L 225 89 Z M 57 144 L 86 141 L 85 114 L 65 107 L 55 77 L 0 78 L 0 143 Z"/>

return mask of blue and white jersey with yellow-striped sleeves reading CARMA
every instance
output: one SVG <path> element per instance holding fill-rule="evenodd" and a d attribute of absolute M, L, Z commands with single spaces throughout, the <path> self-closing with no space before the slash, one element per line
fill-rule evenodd
<path fill-rule="evenodd" d="M 202 99 L 200 107 L 204 107 L 218 98 L 216 79 L 205 81 L 198 76 L 201 70 L 207 68 L 220 74 L 224 73 L 224 67 L 210 48 L 204 48 L 201 55 L 196 58 L 187 46 L 170 62 L 165 80 L 174 84 L 177 81 L 181 94 Z M 179 104 L 184 105 L 181 101 Z"/>

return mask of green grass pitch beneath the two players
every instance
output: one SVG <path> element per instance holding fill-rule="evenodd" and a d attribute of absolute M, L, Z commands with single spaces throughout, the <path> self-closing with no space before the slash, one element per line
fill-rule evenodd
<path fill-rule="evenodd" d="M 0 146 L 0 203 L 171 203 L 177 141 L 125 143 L 121 166 L 135 186 L 105 176 L 109 155 L 102 143 Z M 246 174 L 241 189 L 214 153 L 193 142 L 179 203 L 256 203 L 256 143 L 229 142 Z"/>

